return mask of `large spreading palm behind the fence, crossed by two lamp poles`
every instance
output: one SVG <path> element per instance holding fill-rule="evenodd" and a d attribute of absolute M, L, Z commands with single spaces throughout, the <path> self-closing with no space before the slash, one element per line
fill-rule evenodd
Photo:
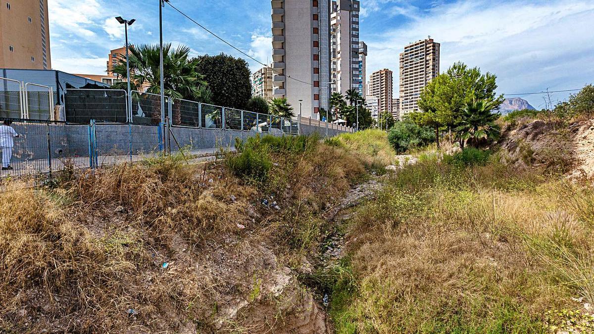
<path fill-rule="evenodd" d="M 208 89 L 204 75 L 198 70 L 198 59 L 189 59 L 190 49 L 171 44 L 163 46 L 163 72 L 165 95 L 174 99 L 188 99 L 198 102 L 211 102 L 212 93 Z M 134 45 L 129 48 L 130 86 L 132 90 L 153 94 L 161 93 L 160 54 L 158 45 Z M 110 69 L 118 78 L 127 78 L 126 58 L 118 56 Z M 125 81 L 115 83 L 115 89 L 127 89 Z"/>

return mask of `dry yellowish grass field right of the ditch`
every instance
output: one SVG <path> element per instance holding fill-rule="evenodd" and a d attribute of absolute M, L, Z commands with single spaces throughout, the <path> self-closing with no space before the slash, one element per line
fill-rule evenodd
<path fill-rule="evenodd" d="M 408 166 L 353 221 L 339 332 L 543 332 L 594 297 L 593 188 L 493 162 Z"/>

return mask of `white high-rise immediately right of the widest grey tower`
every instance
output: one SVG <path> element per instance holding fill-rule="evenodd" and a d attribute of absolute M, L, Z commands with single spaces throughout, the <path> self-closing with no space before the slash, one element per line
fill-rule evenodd
<path fill-rule="evenodd" d="M 359 46 L 359 9 L 359 1 L 356 0 L 332 2 L 330 17 L 332 92 L 345 94 L 349 89 L 359 90 L 362 94 L 365 92 L 362 87 L 365 77 L 361 77 L 365 64 L 361 64 Z M 363 45 L 366 55 L 366 45 L 365 43 Z"/>

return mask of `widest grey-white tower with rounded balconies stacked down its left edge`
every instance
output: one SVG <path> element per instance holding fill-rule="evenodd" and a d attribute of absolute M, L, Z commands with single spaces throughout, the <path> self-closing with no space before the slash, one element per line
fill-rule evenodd
<path fill-rule="evenodd" d="M 273 96 L 318 119 L 330 99 L 330 0 L 272 0 Z"/>

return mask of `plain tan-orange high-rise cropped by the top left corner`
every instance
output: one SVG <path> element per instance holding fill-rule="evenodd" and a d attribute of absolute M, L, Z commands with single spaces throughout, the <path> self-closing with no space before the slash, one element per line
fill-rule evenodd
<path fill-rule="evenodd" d="M 2 0 L 0 4 L 0 68 L 52 68 L 48 0 Z"/>

